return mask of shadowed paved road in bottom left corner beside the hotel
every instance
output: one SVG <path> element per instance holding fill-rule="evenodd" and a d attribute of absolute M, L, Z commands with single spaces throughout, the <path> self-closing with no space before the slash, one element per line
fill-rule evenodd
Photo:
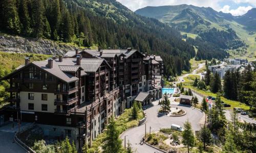
<path fill-rule="evenodd" d="M 28 126 L 30 123 L 23 123 L 22 128 Z M 13 140 L 15 132 L 18 131 L 18 126 L 15 123 L 12 128 L 12 123 L 0 127 L 0 152 L 2 153 L 25 153 L 26 151 L 16 144 Z"/>

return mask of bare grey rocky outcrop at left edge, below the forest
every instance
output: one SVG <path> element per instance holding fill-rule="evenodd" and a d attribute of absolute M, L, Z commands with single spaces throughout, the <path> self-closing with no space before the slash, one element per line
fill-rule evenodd
<path fill-rule="evenodd" d="M 46 39 L 0 34 L 0 51 L 3 52 L 64 55 L 69 50 L 75 50 L 75 46 Z"/>

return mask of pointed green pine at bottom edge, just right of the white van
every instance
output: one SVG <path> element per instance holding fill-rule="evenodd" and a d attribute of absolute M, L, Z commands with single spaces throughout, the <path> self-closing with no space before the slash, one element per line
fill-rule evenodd
<path fill-rule="evenodd" d="M 187 146 L 187 152 L 189 153 L 189 147 L 195 145 L 195 136 L 192 131 L 191 124 L 186 121 L 184 123 L 184 131 L 182 132 L 182 143 Z"/>

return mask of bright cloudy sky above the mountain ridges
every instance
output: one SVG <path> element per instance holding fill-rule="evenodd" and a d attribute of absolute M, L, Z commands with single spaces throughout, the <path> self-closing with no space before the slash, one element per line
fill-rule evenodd
<path fill-rule="evenodd" d="M 252 8 L 256 8 L 256 0 L 117 0 L 132 11 L 146 6 L 165 5 L 194 5 L 198 7 L 211 7 L 216 11 L 231 13 L 239 16 L 247 13 Z"/>

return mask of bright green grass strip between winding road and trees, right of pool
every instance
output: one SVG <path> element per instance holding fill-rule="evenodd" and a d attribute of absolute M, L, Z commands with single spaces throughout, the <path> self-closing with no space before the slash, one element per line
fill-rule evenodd
<path fill-rule="evenodd" d="M 199 90 L 197 89 L 196 87 L 192 86 L 191 84 L 193 84 L 194 80 L 197 78 L 199 78 L 199 75 L 188 75 L 188 77 L 185 77 L 184 78 L 184 87 L 185 88 L 190 88 L 191 90 L 194 90 L 202 95 L 204 95 L 205 97 L 206 96 L 212 96 L 212 97 L 217 97 L 217 94 L 215 93 L 212 93 L 212 92 L 209 92 L 209 91 L 203 91 L 203 90 Z M 229 104 L 231 105 L 230 108 L 225 108 L 225 109 L 233 109 L 234 107 L 240 107 L 244 110 L 249 110 L 249 106 L 243 104 L 243 103 L 240 103 L 239 101 L 234 101 L 234 100 L 229 100 L 225 97 L 221 97 L 221 100 L 226 103 L 226 104 Z"/>

